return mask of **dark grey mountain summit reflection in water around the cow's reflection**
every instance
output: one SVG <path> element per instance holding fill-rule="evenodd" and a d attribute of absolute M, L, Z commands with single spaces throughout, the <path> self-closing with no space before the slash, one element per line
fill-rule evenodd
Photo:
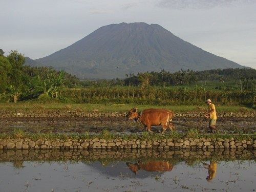
<path fill-rule="evenodd" d="M 134 174 L 130 168 L 126 165 L 126 161 L 112 161 L 109 164 L 102 165 L 100 162 L 84 163 L 92 167 L 92 171 L 98 172 L 110 177 L 132 177 L 143 179 L 147 177 L 155 177 L 155 175 L 163 175 L 164 172 L 147 172 L 146 170 L 140 169 L 138 174 Z"/>

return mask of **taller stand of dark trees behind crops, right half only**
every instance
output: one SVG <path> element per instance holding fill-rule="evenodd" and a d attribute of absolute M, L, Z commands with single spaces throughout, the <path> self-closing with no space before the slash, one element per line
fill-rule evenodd
<path fill-rule="evenodd" d="M 161 72 L 139 73 L 126 75 L 125 86 L 138 86 L 146 84 L 150 86 L 185 86 L 195 84 L 198 81 L 250 81 L 256 80 L 256 70 L 251 68 L 244 69 L 216 69 L 205 71 L 180 70 L 175 73 L 162 70 Z M 247 83 L 248 84 L 248 83 Z M 247 86 L 248 87 L 248 86 Z"/>

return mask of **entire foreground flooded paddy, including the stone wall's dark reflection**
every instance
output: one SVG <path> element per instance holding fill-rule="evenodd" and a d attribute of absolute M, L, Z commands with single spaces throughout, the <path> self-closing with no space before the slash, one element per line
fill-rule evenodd
<path fill-rule="evenodd" d="M 253 191 L 256 188 L 253 151 L 240 155 L 232 151 L 189 154 L 0 151 L 0 191 Z"/>

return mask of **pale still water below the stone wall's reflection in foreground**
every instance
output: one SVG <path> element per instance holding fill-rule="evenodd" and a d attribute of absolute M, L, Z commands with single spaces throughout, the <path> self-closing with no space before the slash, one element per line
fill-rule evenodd
<path fill-rule="evenodd" d="M 24 160 L 18 166 L 5 161 L 0 191 L 255 191 L 255 160 L 78 158 Z"/>

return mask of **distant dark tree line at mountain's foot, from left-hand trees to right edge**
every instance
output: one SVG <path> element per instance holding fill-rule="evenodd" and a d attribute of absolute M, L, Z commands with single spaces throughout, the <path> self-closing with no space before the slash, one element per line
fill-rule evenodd
<path fill-rule="evenodd" d="M 236 83 L 236 88 L 241 91 L 252 91 L 256 89 L 256 70 L 251 68 L 244 69 L 216 69 L 205 71 L 180 70 L 174 73 L 162 70 L 161 72 L 145 72 L 135 74 L 126 74 L 124 79 L 96 79 L 83 80 L 83 87 L 171 87 L 187 86 L 196 84 L 199 81 L 232 81 Z M 219 87 L 217 89 L 226 89 Z"/>

